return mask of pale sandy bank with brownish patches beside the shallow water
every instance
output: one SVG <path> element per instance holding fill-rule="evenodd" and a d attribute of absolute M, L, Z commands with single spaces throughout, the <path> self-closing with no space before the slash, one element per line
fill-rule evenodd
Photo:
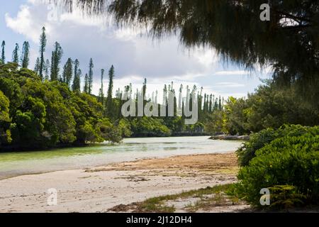
<path fill-rule="evenodd" d="M 138 160 L 0 180 L 0 212 L 106 212 L 167 194 L 236 181 L 234 153 Z M 57 190 L 49 206 L 48 189 Z"/>

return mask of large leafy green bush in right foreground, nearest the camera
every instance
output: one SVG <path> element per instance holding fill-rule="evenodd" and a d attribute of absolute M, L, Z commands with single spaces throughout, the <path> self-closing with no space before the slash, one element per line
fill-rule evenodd
<path fill-rule="evenodd" d="M 259 192 L 264 188 L 271 192 L 272 207 L 319 204 L 318 127 L 307 131 L 277 138 L 257 150 L 256 157 L 239 172 L 237 194 L 253 206 L 261 206 Z"/>

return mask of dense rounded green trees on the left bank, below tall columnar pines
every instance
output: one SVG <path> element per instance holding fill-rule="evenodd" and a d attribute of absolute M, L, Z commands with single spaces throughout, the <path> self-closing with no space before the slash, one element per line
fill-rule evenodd
<path fill-rule="evenodd" d="M 58 144 L 84 144 L 129 135 L 103 116 L 96 97 L 71 92 L 65 83 L 42 82 L 31 70 L 15 63 L 0 66 L 1 146 L 48 148 Z M 9 106 L 10 104 L 10 106 Z"/>

